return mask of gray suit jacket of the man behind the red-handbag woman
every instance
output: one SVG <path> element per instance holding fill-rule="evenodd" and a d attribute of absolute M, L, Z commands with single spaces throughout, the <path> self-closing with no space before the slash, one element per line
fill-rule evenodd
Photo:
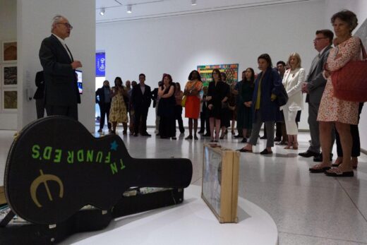
<path fill-rule="evenodd" d="M 324 65 L 327 61 L 327 56 L 329 56 L 331 46 L 326 47 L 323 54 L 321 54 L 318 64 L 316 64 L 312 71 L 308 72 L 307 88 L 308 94 L 306 96 L 306 102 L 313 104 L 320 104 L 321 97 L 325 90 L 326 80 L 323 77 Z"/>

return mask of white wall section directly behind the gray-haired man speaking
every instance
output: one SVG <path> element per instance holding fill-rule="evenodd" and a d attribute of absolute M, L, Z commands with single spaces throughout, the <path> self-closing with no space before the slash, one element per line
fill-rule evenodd
<path fill-rule="evenodd" d="M 66 44 L 74 59 L 83 64 L 79 121 L 94 131 L 95 1 L 89 0 L 18 0 L 18 129 L 37 118 L 35 101 L 28 101 L 25 91 L 29 88 L 35 91 L 35 74 L 42 70 L 38 52 L 44 37 L 51 34 L 51 20 L 56 14 L 66 16 L 74 27 Z"/>

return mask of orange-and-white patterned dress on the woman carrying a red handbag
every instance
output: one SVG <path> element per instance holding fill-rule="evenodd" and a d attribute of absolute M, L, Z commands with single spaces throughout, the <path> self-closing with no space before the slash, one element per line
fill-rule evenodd
<path fill-rule="evenodd" d="M 358 37 L 351 37 L 337 47 L 330 50 L 327 66 L 330 71 L 337 71 L 345 66 L 348 61 L 361 60 L 361 42 Z M 343 124 L 358 124 L 359 102 L 339 100 L 334 97 L 331 76 L 321 97 L 318 109 L 318 121 L 338 121 Z"/>

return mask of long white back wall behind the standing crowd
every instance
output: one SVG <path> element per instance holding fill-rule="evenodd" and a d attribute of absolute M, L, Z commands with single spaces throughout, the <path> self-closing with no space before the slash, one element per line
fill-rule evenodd
<path fill-rule="evenodd" d="M 203 64 L 239 63 L 239 74 L 257 69 L 257 58 L 269 53 L 274 64 L 299 52 L 308 71 L 316 52 L 315 30 L 325 28 L 325 1 L 97 24 L 97 49 L 107 57 L 107 79 L 138 80 L 145 73 L 152 88 L 170 73 L 181 86 L 188 73 Z M 308 129 L 307 105 L 301 129 Z M 187 124 L 187 120 L 184 120 Z M 152 107 L 148 125 L 155 124 Z"/>

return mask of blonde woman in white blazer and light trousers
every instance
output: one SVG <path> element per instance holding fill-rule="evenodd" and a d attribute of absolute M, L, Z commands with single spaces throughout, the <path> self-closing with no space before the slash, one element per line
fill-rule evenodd
<path fill-rule="evenodd" d="M 284 149 L 298 149 L 297 141 L 297 112 L 303 109 L 303 96 L 301 92 L 302 83 L 306 80 L 306 73 L 301 68 L 301 57 L 297 53 L 291 53 L 288 58 L 289 68 L 282 80 L 285 90 L 287 91 L 289 100 L 287 104 L 280 107 L 283 110 L 285 126 L 288 135 L 288 145 Z"/>

